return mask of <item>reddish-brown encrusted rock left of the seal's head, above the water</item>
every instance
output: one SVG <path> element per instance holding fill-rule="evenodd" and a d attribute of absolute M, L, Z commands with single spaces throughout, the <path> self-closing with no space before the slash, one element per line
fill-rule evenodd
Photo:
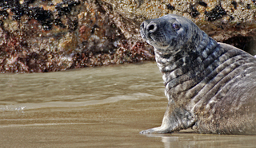
<path fill-rule="evenodd" d="M 152 60 L 134 21 L 97 0 L 0 2 L 0 72 L 54 72 Z M 126 25 L 133 27 L 129 33 Z M 147 49 L 147 50 L 146 50 Z"/>

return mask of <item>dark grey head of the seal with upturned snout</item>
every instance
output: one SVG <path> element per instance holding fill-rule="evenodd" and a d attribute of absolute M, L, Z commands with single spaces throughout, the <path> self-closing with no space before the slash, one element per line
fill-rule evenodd
<path fill-rule="evenodd" d="M 174 14 L 143 21 L 140 33 L 161 53 L 178 51 L 186 45 L 197 46 L 202 40 L 202 31 L 194 22 Z"/>

